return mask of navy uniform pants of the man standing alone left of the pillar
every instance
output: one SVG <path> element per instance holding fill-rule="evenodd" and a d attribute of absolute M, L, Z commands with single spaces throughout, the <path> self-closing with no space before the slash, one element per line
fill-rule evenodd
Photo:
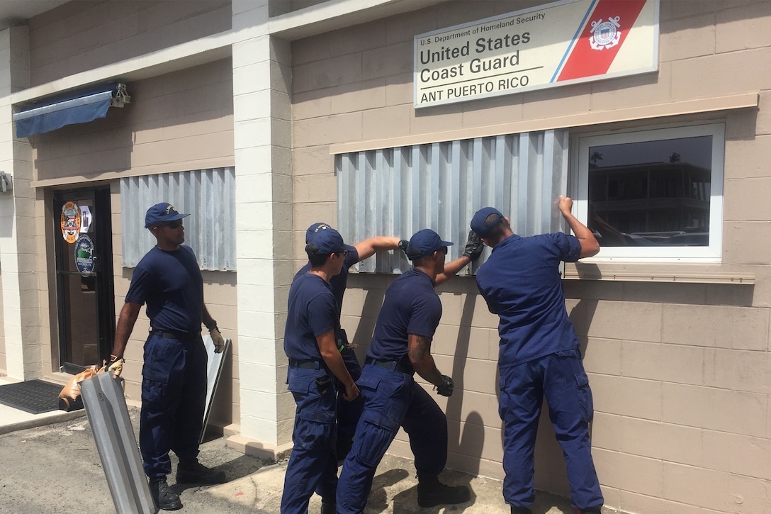
<path fill-rule="evenodd" d="M 193 461 L 206 408 L 206 347 L 200 334 L 171 339 L 151 333 L 144 345 L 140 451 L 150 478 L 171 472 L 169 451 Z"/>

